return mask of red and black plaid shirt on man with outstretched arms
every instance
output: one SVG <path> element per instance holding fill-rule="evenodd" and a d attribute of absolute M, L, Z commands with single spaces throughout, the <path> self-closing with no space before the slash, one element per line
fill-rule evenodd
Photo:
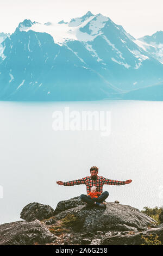
<path fill-rule="evenodd" d="M 86 191 L 87 194 L 91 192 L 91 187 L 96 186 L 97 192 L 103 192 L 103 185 L 124 185 L 125 181 L 118 181 L 118 180 L 109 180 L 104 178 L 103 176 L 97 176 L 96 180 L 92 180 L 91 176 L 86 176 L 85 178 L 79 179 L 79 180 L 72 180 L 64 182 L 64 186 L 74 186 L 74 185 L 80 185 L 85 184 L 86 185 Z"/>

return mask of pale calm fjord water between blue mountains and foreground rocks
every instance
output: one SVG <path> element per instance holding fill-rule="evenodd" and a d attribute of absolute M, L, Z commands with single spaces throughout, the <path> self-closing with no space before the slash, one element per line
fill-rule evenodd
<path fill-rule="evenodd" d="M 110 111 L 111 133 L 54 131 L 53 112 Z M 31 202 L 49 204 L 86 194 L 85 185 L 59 186 L 90 174 L 115 180 L 132 179 L 123 186 L 104 185 L 107 201 L 143 209 L 163 205 L 163 102 L 0 102 L 0 223 L 20 220 Z"/>

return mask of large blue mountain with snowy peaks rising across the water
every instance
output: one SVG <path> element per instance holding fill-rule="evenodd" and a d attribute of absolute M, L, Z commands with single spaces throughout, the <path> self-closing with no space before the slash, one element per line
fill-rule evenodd
<path fill-rule="evenodd" d="M 24 20 L 0 44 L 0 99 L 120 98 L 163 80 L 145 44 L 90 11 L 57 24 Z"/>

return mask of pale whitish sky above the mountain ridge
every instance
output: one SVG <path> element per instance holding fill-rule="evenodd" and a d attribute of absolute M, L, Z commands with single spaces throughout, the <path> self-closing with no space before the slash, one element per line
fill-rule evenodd
<path fill-rule="evenodd" d="M 163 31 L 162 0 L 1 0 L 0 33 L 13 33 L 25 19 L 70 21 L 91 11 L 109 17 L 139 38 Z"/>

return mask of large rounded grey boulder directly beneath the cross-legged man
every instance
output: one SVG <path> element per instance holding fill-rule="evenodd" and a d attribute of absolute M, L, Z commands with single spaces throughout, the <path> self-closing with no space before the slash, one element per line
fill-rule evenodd
<path fill-rule="evenodd" d="M 138 231 L 156 227 L 155 220 L 129 205 L 106 203 L 106 209 L 99 209 L 96 206 L 87 208 L 82 204 L 72 208 L 71 200 L 68 204 L 70 209 L 63 208 L 63 211 L 55 215 L 55 220 L 61 220 L 67 214 L 74 215 L 77 217 L 80 231 Z"/>

